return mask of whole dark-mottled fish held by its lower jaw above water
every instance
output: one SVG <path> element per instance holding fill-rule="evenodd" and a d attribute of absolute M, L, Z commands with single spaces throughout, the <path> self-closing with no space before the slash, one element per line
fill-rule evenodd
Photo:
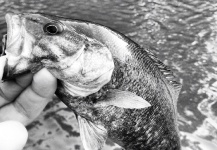
<path fill-rule="evenodd" d="M 180 150 L 181 84 L 149 49 L 104 25 L 48 14 L 8 13 L 3 80 L 42 68 L 75 114 L 85 150 L 109 138 L 126 150 Z"/>

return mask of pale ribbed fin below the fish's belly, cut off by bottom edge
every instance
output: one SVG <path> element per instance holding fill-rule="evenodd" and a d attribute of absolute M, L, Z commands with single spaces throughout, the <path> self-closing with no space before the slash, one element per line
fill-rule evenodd
<path fill-rule="evenodd" d="M 85 150 L 101 150 L 107 139 L 107 131 L 100 125 L 78 116 L 81 140 Z"/>

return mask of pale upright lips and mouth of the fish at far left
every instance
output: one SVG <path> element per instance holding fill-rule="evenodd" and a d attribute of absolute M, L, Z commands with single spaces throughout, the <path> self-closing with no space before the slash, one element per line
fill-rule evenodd
<path fill-rule="evenodd" d="M 19 15 L 8 13 L 5 15 L 7 34 L 3 35 L 1 56 L 6 55 L 7 61 L 4 67 L 2 80 L 9 80 L 28 72 L 16 70 L 16 63 L 20 59 L 22 51 L 22 20 Z"/>

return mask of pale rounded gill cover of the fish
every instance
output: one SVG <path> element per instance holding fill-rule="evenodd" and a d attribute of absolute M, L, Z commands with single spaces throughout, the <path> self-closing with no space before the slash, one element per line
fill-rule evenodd
<path fill-rule="evenodd" d="M 65 78 L 62 81 L 63 87 L 70 95 L 88 96 L 111 80 L 114 62 L 107 47 L 91 41 L 73 57 L 73 63 L 69 62 L 70 65 L 61 70 L 64 76 L 62 78 Z"/>

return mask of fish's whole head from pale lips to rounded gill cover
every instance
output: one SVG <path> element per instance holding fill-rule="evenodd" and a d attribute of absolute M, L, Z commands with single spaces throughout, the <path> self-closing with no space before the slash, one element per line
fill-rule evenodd
<path fill-rule="evenodd" d="M 70 20 L 44 14 L 7 14 L 6 73 L 14 78 L 47 68 L 56 78 L 79 86 L 107 83 L 114 68 L 109 49 L 78 33 Z"/>

